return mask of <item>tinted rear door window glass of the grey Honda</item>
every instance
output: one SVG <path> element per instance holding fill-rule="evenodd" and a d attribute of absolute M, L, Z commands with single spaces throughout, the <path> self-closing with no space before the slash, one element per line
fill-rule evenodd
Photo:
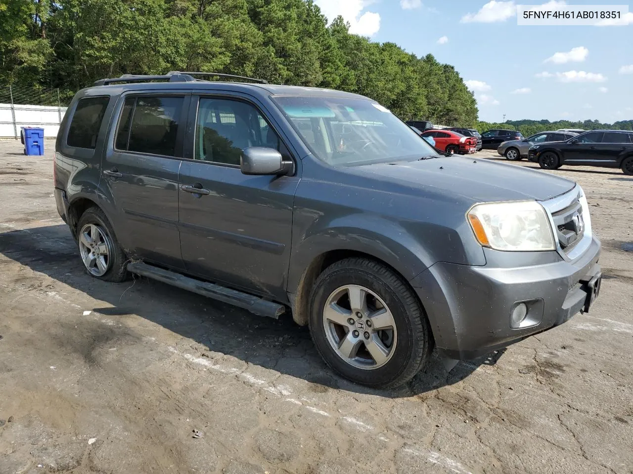
<path fill-rule="evenodd" d="M 116 148 L 175 156 L 184 97 L 128 97 L 123 105 Z"/>

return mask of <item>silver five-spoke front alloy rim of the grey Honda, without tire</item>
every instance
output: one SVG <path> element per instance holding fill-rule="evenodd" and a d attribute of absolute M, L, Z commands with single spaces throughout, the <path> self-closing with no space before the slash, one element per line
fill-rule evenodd
<path fill-rule="evenodd" d="M 389 362 L 398 342 L 391 310 L 364 286 L 335 289 L 323 309 L 323 327 L 335 353 L 349 365 L 365 370 Z"/>

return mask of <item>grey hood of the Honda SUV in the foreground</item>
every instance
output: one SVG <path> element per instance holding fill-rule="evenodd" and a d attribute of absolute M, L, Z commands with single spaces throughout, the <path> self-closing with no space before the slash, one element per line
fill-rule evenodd
<path fill-rule="evenodd" d="M 348 168 L 392 185 L 392 192 L 429 191 L 465 202 L 548 200 L 571 190 L 575 183 L 523 166 L 481 158 L 441 157 L 413 162 L 370 164 Z"/>

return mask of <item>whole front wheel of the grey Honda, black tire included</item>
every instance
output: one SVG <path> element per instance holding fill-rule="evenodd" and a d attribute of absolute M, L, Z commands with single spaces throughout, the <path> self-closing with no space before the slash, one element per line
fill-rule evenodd
<path fill-rule="evenodd" d="M 351 304 L 354 300 L 363 303 Z M 354 306 L 361 307 L 362 317 Z M 310 295 L 309 324 L 323 360 L 368 387 L 406 384 L 428 362 L 433 348 L 427 317 L 406 281 L 367 258 L 346 258 L 322 272 Z"/>

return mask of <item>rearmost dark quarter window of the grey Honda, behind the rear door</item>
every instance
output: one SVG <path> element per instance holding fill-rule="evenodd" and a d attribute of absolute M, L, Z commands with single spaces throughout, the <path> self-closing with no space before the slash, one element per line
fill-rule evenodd
<path fill-rule="evenodd" d="M 66 143 L 69 147 L 94 149 L 108 102 L 110 97 L 87 97 L 79 100 L 68 129 Z"/>

